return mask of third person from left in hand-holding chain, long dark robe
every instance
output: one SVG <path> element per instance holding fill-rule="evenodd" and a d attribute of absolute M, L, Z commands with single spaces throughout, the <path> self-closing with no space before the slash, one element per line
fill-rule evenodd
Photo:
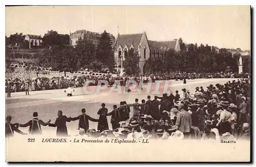
<path fill-rule="evenodd" d="M 71 121 L 71 117 L 67 117 L 66 115 L 62 115 L 62 111 L 58 110 L 58 117 L 54 124 L 49 123 L 49 127 L 57 127 L 56 135 L 58 137 L 68 136 L 68 129 L 66 126 L 67 122 Z"/>

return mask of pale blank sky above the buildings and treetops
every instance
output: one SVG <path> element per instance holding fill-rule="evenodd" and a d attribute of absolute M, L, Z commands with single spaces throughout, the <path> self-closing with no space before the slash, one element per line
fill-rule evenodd
<path fill-rule="evenodd" d="M 119 27 L 119 28 L 117 28 Z M 146 32 L 148 40 L 250 50 L 250 6 L 25 6 L 6 7 L 6 35 L 44 36 L 76 30 L 117 36 Z"/>

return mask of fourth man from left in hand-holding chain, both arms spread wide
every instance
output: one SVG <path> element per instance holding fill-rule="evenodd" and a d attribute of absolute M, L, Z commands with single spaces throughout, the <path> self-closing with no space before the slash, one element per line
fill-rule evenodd
<path fill-rule="evenodd" d="M 79 120 L 78 122 L 78 129 L 82 128 L 84 131 L 89 129 L 89 120 L 92 122 L 98 122 L 99 120 L 92 118 L 91 116 L 86 114 L 86 109 L 82 109 L 82 114 L 76 117 L 72 117 L 71 121 Z"/>

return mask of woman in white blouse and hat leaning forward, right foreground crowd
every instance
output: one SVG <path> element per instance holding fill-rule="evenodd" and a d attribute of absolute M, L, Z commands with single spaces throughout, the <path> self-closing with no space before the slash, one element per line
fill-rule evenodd
<path fill-rule="evenodd" d="M 219 127 L 220 134 L 230 132 L 231 126 L 230 126 L 230 119 L 231 119 L 231 113 L 227 111 L 229 107 L 228 101 L 221 101 L 220 105 L 223 107 L 223 111 L 220 113 L 220 120 L 217 123 L 216 127 Z"/>

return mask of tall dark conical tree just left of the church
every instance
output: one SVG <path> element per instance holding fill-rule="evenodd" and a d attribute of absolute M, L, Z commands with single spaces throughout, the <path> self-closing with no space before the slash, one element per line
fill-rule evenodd
<path fill-rule="evenodd" d="M 105 30 L 99 39 L 96 58 L 111 70 L 115 66 L 113 43 L 110 34 Z"/>

